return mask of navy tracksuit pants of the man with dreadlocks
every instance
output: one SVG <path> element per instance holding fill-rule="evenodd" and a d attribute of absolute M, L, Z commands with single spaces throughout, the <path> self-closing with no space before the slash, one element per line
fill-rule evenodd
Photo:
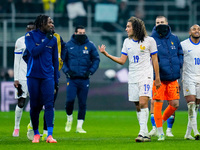
<path fill-rule="evenodd" d="M 30 116 L 33 130 L 38 129 L 39 114 L 44 105 L 47 127 L 53 127 L 54 121 L 54 79 L 27 78 L 28 91 L 30 96 Z"/>

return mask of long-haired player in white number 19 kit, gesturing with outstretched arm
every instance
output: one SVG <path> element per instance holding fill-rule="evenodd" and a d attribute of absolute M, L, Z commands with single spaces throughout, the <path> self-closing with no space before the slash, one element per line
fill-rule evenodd
<path fill-rule="evenodd" d="M 111 60 L 123 65 L 129 58 L 129 101 L 136 105 L 140 131 L 136 142 L 151 141 L 148 136 L 147 122 L 149 117 L 148 100 L 152 97 L 153 68 L 155 85 L 160 87 L 157 46 L 153 38 L 147 36 L 144 22 L 131 17 L 126 26 L 128 38 L 125 39 L 121 57 L 115 57 L 105 50 L 105 45 L 98 46 L 101 53 Z M 153 64 L 152 64 L 153 63 Z"/>

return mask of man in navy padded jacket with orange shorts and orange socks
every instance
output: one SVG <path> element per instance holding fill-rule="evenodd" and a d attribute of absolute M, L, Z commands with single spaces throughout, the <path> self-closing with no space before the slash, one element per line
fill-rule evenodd
<path fill-rule="evenodd" d="M 168 122 L 166 136 L 173 137 L 171 127 L 174 122 L 173 114 L 179 106 L 178 79 L 183 65 L 183 50 L 178 37 L 171 33 L 167 18 L 164 16 L 156 18 L 156 26 L 153 28 L 152 37 L 155 39 L 158 49 L 161 87 L 156 89 L 153 86 L 151 121 L 154 127 L 149 134 L 151 136 L 158 135 L 160 141 L 165 140 L 162 126 L 166 120 Z M 162 115 L 163 100 L 167 100 L 169 105 Z"/>

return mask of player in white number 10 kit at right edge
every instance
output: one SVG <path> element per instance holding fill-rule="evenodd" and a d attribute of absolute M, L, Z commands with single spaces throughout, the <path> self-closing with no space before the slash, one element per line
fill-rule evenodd
<path fill-rule="evenodd" d="M 190 37 L 181 46 L 184 53 L 183 94 L 188 106 L 188 125 L 185 139 L 200 140 L 197 129 L 197 114 L 200 102 L 200 27 L 193 25 L 189 30 Z M 194 131 L 194 137 L 191 131 Z"/>

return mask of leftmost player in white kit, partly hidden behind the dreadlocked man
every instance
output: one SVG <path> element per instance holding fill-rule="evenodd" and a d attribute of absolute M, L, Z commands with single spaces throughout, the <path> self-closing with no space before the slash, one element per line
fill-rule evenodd
<path fill-rule="evenodd" d="M 29 22 L 26 27 L 26 32 L 31 31 L 35 28 L 33 22 Z M 13 136 L 19 136 L 20 129 L 20 120 L 25 104 L 25 100 L 28 95 L 26 72 L 27 64 L 23 60 L 23 52 L 25 51 L 25 36 L 22 36 L 17 39 L 15 43 L 15 59 L 14 59 L 14 86 L 15 86 L 15 99 L 18 100 L 18 103 L 15 108 L 15 126 L 13 131 Z"/>

